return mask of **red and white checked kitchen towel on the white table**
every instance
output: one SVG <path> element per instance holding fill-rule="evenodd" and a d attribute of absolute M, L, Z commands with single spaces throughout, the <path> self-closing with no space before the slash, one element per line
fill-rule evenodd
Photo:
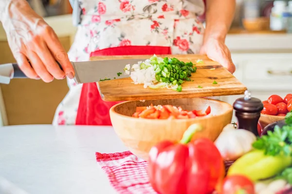
<path fill-rule="evenodd" d="M 157 194 L 149 183 L 146 161 L 129 151 L 95 155 L 118 194 Z M 225 162 L 226 170 L 231 163 Z"/>

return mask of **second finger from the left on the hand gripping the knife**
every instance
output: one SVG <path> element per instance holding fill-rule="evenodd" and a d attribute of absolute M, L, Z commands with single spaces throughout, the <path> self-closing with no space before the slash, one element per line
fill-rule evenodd
<path fill-rule="evenodd" d="M 37 53 L 30 51 L 28 58 L 37 75 L 45 82 L 51 82 L 54 77 L 48 72 L 47 68 L 43 64 L 42 60 L 38 57 Z"/>

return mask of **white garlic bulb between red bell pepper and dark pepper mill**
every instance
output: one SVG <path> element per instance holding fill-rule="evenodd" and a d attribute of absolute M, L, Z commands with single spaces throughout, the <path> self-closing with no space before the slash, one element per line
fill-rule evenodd
<path fill-rule="evenodd" d="M 228 124 L 214 143 L 225 161 L 235 161 L 249 152 L 255 141 L 254 133 L 245 129 L 236 129 L 233 124 Z"/>

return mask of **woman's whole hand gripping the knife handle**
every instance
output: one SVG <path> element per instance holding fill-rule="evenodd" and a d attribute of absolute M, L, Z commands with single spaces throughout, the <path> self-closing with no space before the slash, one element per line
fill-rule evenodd
<path fill-rule="evenodd" d="M 24 74 L 45 82 L 66 76 L 73 79 L 73 66 L 53 29 L 26 0 L 5 2 L 8 4 L 0 13 L 0 19 L 12 53 Z M 55 61 L 61 64 L 63 71 Z"/>

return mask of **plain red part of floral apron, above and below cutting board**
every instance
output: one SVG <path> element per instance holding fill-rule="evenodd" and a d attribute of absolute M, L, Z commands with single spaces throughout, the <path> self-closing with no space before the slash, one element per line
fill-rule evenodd
<path fill-rule="evenodd" d="M 91 52 L 92 56 L 171 54 L 170 47 L 125 46 Z M 84 83 L 77 110 L 76 125 L 110 125 L 110 108 L 120 103 L 103 101 L 96 83 Z"/>

